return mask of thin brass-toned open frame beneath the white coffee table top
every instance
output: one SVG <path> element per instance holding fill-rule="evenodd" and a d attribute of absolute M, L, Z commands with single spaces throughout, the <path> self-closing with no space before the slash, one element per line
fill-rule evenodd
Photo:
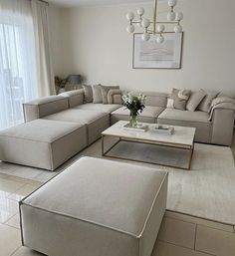
<path fill-rule="evenodd" d="M 105 137 L 106 136 L 118 137 L 118 139 L 111 147 L 109 147 L 105 151 Z M 136 142 L 136 143 L 144 143 L 144 144 L 155 144 L 155 145 L 159 145 L 159 146 L 167 146 L 167 147 L 187 150 L 188 151 L 187 167 L 180 167 L 180 166 L 175 166 L 175 165 L 170 165 L 170 164 L 161 164 L 161 163 L 153 162 L 153 161 L 144 161 L 144 160 L 139 160 L 139 159 L 131 159 L 131 158 L 128 158 L 128 157 L 121 157 L 121 156 L 116 156 L 116 155 L 108 155 L 108 153 L 120 141 L 128 141 L 128 142 Z M 174 167 L 174 168 L 181 168 L 181 169 L 189 170 L 190 167 L 191 167 L 193 151 L 194 151 L 194 139 L 193 139 L 192 145 L 188 145 L 188 144 L 183 144 L 183 143 L 168 143 L 168 142 L 164 142 L 164 141 L 153 141 L 153 140 L 146 140 L 146 139 L 139 139 L 139 138 L 138 139 L 132 139 L 132 138 L 128 138 L 128 137 L 120 137 L 120 136 L 117 136 L 117 135 L 102 134 L 102 155 L 106 156 L 106 157 L 112 157 L 112 158 L 124 159 L 124 160 L 131 160 L 131 161 L 138 161 L 138 162 L 144 162 L 144 163 L 152 163 L 152 164 L 157 164 L 157 165 L 162 165 L 162 166 L 167 166 L 167 167 Z"/>

